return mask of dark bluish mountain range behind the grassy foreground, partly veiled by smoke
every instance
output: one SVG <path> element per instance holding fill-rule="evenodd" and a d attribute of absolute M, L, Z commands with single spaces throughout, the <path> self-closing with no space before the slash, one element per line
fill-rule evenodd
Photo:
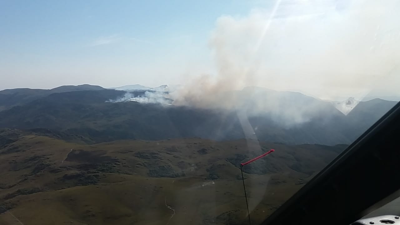
<path fill-rule="evenodd" d="M 159 93 L 126 92 L 87 84 L 50 90 L 2 90 L 0 128 L 42 130 L 58 134 L 66 141 L 88 144 L 120 139 L 247 137 L 286 144 L 336 145 L 354 141 L 396 104 L 376 98 L 358 102 L 343 113 L 337 108 L 338 102 L 257 87 L 227 92 L 219 98 L 233 101 L 236 110 L 110 102 L 127 93 L 145 98 L 149 91 Z M 351 98 L 344 106 L 350 101 Z"/>

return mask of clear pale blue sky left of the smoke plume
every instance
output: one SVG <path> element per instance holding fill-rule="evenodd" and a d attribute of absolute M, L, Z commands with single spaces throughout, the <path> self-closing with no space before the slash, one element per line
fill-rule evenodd
<path fill-rule="evenodd" d="M 0 1 L 0 89 L 179 82 L 222 14 L 255 1 Z"/>

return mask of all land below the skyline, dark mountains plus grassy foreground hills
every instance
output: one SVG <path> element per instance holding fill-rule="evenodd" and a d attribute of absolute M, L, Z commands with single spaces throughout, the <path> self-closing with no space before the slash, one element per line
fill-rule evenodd
<path fill-rule="evenodd" d="M 259 224 L 396 104 L 132 88 L 0 91 L 0 224 Z"/>

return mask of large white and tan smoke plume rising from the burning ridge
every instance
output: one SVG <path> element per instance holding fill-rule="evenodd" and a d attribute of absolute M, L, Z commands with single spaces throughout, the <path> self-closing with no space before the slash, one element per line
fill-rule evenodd
<path fill-rule="evenodd" d="M 300 90 L 322 99 L 362 100 L 372 89 L 400 94 L 399 6 L 397 0 L 277 0 L 247 16 L 220 16 L 209 40 L 216 74 L 190 78 L 168 95 L 128 94 L 119 101 L 165 104 L 170 98 L 198 108 L 251 107 L 252 115 L 297 124 L 310 120 L 321 104 L 242 88 Z"/>

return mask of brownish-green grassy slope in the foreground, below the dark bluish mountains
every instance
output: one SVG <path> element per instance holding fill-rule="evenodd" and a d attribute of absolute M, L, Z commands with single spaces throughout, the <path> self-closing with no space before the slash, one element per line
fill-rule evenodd
<path fill-rule="evenodd" d="M 0 150 L 0 198 L 30 225 L 235 224 L 246 219 L 237 165 L 270 148 L 277 151 L 246 168 L 255 223 L 344 146 L 205 139 L 78 145 L 22 136 Z M 1 224 L 14 220 L 0 214 Z"/>

